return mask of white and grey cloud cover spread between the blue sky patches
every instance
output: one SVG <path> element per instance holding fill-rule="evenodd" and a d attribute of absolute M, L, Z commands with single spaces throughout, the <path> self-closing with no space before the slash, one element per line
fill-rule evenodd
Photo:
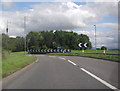
<path fill-rule="evenodd" d="M 42 30 L 75 30 L 78 33 L 84 31 L 87 34 L 92 44 L 94 45 L 94 31 L 86 27 L 102 21 L 104 17 L 109 14 L 117 17 L 117 5 L 114 2 L 110 3 L 86 3 L 86 5 L 76 5 L 73 2 L 61 3 L 40 3 L 31 5 L 32 9 L 23 11 L 0 12 L 2 19 L 0 19 L 0 30 L 5 32 L 6 22 L 9 23 L 10 36 L 24 36 L 24 16 L 26 16 L 26 31 L 42 31 Z M 112 30 L 117 30 L 116 23 L 102 23 L 97 24 L 99 27 L 111 27 Z M 104 30 L 105 31 L 105 30 Z M 106 34 L 106 35 L 105 35 Z M 97 31 L 98 46 L 106 45 L 113 47 L 117 46 L 117 31 Z M 104 39 L 101 41 L 101 38 Z"/>

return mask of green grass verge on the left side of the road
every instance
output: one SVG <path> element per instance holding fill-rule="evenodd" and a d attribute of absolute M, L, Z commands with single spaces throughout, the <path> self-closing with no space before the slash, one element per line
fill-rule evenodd
<path fill-rule="evenodd" d="M 24 52 L 14 52 L 2 58 L 2 77 L 6 77 L 36 60 L 36 57 L 24 55 Z"/>

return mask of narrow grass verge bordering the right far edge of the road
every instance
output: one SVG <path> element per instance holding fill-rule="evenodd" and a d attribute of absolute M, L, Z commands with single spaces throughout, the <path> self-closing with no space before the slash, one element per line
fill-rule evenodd
<path fill-rule="evenodd" d="M 82 56 L 82 57 L 92 57 L 92 58 L 120 61 L 119 55 L 84 54 L 84 53 L 49 53 L 49 55 Z"/>

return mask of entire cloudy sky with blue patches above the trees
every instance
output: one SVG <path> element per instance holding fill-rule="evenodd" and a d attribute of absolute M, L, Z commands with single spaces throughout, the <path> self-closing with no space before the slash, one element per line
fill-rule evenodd
<path fill-rule="evenodd" d="M 8 0 L 9 1 L 9 0 Z M 24 36 L 30 31 L 65 30 L 86 34 L 95 47 L 118 48 L 118 3 L 117 2 L 2 2 L 0 4 L 0 30 L 9 36 Z"/>

